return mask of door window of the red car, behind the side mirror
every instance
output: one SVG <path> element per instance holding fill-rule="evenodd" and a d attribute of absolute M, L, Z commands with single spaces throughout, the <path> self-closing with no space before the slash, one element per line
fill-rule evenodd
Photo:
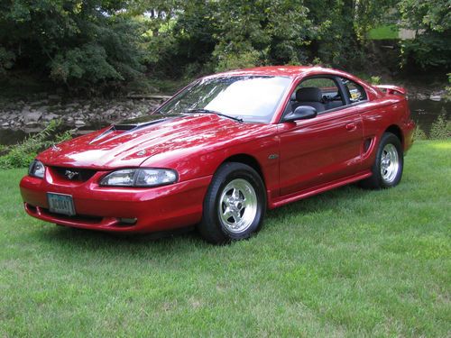
<path fill-rule="evenodd" d="M 340 89 L 332 78 L 307 78 L 303 80 L 293 93 L 292 109 L 299 105 L 310 105 L 318 114 L 344 105 Z"/>

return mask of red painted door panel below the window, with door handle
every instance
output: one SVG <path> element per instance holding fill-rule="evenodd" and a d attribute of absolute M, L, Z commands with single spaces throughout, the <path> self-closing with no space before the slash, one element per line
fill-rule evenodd
<path fill-rule="evenodd" d="M 346 129 L 347 125 L 352 128 Z M 281 123 L 280 137 L 281 196 L 361 169 L 363 123 L 355 107 L 297 123 Z"/>

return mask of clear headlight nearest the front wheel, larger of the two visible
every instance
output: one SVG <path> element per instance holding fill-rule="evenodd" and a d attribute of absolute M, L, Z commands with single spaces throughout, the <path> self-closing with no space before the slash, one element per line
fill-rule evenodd
<path fill-rule="evenodd" d="M 171 169 L 121 169 L 100 180 L 101 186 L 158 187 L 177 181 L 177 172 Z"/>

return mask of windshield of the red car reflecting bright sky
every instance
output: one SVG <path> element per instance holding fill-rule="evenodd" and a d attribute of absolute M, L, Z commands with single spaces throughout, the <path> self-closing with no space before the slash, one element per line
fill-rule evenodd
<path fill-rule="evenodd" d="M 262 76 L 204 78 L 170 99 L 158 113 L 207 110 L 244 122 L 269 123 L 290 82 L 290 78 Z"/>

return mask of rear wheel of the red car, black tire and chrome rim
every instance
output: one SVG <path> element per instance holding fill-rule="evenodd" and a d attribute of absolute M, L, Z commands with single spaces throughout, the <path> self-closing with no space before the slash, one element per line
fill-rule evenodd
<path fill-rule="evenodd" d="M 391 132 L 385 132 L 372 167 L 373 175 L 362 180 L 360 186 L 370 189 L 395 187 L 400 183 L 403 167 L 404 154 L 400 139 Z"/>

